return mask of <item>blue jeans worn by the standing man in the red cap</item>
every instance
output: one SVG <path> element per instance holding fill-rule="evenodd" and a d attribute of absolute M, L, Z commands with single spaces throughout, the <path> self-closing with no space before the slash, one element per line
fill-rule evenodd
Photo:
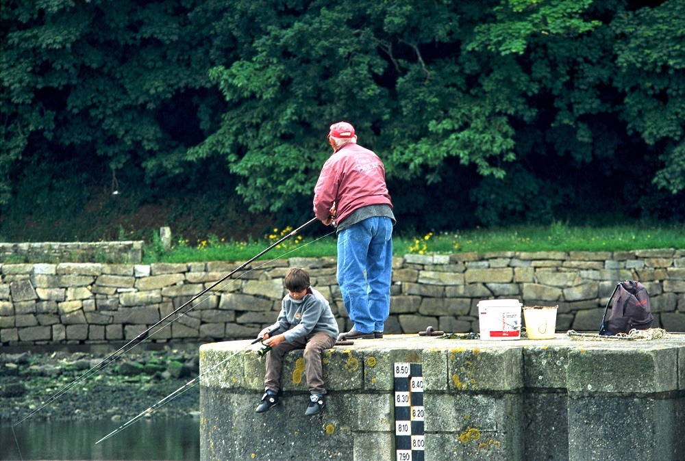
<path fill-rule="evenodd" d="M 390 313 L 393 222 L 367 218 L 338 235 L 338 285 L 354 329 L 383 331 Z M 364 277 L 366 271 L 366 277 Z"/>

